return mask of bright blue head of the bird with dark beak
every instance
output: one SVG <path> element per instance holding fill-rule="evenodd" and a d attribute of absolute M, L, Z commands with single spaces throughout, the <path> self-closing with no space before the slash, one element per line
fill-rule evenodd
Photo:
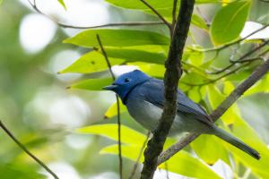
<path fill-rule="evenodd" d="M 104 87 L 103 90 L 112 90 L 117 93 L 122 101 L 125 101 L 126 95 L 130 90 L 149 79 L 151 79 L 150 76 L 139 70 L 134 70 L 133 72 L 126 72 L 120 75 L 116 81 Z"/>

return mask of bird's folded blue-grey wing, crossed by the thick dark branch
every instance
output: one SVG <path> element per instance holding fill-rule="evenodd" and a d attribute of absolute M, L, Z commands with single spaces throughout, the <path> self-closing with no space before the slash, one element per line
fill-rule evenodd
<path fill-rule="evenodd" d="M 157 107 L 164 106 L 164 84 L 163 81 L 152 79 L 143 83 L 139 88 L 140 95 Z M 178 113 L 185 113 L 187 115 L 194 115 L 194 118 L 200 120 L 205 124 L 212 124 L 211 119 L 206 114 L 204 109 L 192 101 L 190 98 L 178 90 Z"/>

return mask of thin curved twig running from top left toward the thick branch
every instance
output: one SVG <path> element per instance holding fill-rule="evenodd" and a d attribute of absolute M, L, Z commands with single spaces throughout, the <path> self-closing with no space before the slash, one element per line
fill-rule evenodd
<path fill-rule="evenodd" d="M 106 28 L 106 27 L 118 27 L 118 26 L 150 26 L 150 25 L 164 25 L 163 21 L 125 21 L 125 22 L 115 22 L 115 23 L 106 23 L 102 25 L 96 26 L 77 26 L 77 25 L 70 25 L 60 21 L 56 21 L 55 18 L 49 16 L 46 13 L 43 13 L 39 10 L 38 5 L 35 1 L 33 3 L 28 0 L 30 6 L 37 12 L 44 16 L 46 16 L 51 21 L 54 21 L 58 26 L 62 28 L 70 28 L 70 29 L 78 29 L 78 30 L 88 30 L 88 29 L 97 29 L 97 28 Z"/>

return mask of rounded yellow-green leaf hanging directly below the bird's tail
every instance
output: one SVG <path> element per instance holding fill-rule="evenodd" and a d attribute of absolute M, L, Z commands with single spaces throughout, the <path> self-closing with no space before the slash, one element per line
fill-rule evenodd
<path fill-rule="evenodd" d="M 220 140 L 213 135 L 200 135 L 191 143 L 192 149 L 199 158 L 202 158 L 208 165 L 213 165 L 218 159 L 222 159 L 230 165 L 227 150 L 220 143 Z"/>

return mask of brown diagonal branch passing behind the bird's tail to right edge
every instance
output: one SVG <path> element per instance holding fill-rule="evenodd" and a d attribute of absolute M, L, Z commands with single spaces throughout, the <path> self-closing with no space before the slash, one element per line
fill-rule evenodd
<path fill-rule="evenodd" d="M 246 90 L 248 90 L 252 85 L 254 85 L 256 81 L 259 81 L 265 75 L 265 73 L 268 72 L 268 70 L 269 59 L 267 59 L 264 64 L 260 64 L 245 81 L 240 83 L 239 86 L 221 102 L 221 105 L 217 107 L 210 115 L 213 121 L 219 119 L 221 115 L 223 115 L 227 111 L 227 109 L 231 107 L 237 101 L 237 99 L 244 94 L 244 92 L 246 92 Z M 187 134 L 186 137 L 169 147 L 169 149 L 163 151 L 160 155 L 160 158 L 158 158 L 158 165 L 167 161 L 173 155 L 178 153 L 178 151 L 185 148 L 191 141 L 194 141 L 198 136 L 199 134 Z"/>

